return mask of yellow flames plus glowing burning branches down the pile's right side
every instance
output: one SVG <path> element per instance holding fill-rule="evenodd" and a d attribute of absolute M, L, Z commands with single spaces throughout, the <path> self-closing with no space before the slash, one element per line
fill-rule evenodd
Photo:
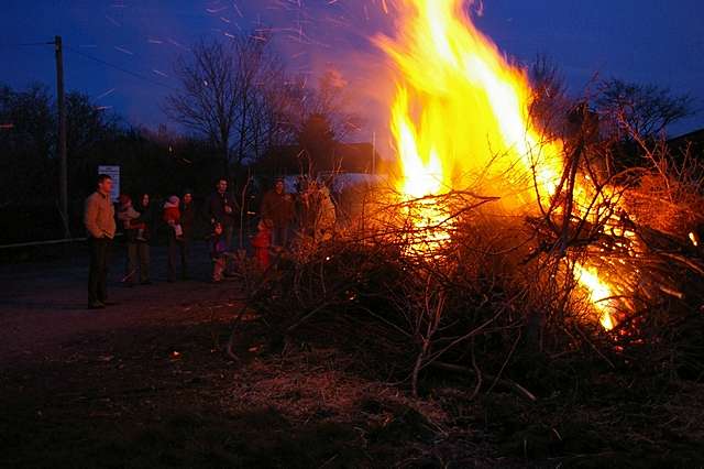
<path fill-rule="evenodd" d="M 573 276 L 610 330 L 635 313 L 626 298 L 650 275 L 639 265 L 647 248 L 624 222 L 624 189 L 600 181 L 583 161 L 582 138 L 546 139 L 528 114 L 534 94 L 525 73 L 474 28 L 462 4 L 407 0 L 397 36 L 377 39 L 396 69 L 389 108 L 403 171 L 397 190 L 403 201 L 415 200 L 405 214 L 426 231 L 413 249 L 435 251 L 450 238 L 452 217 L 437 196 L 468 186 L 501 194 L 490 209 L 546 225 L 554 239 L 543 253 L 565 260 L 562 274 Z"/>

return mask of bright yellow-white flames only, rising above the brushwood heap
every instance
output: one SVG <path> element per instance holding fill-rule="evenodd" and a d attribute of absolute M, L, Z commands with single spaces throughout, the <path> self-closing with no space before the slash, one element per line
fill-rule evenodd
<path fill-rule="evenodd" d="M 419 200 L 418 228 L 436 226 L 442 216 L 424 197 L 482 187 L 502 194 L 502 209 L 529 214 L 537 201 L 550 200 L 562 177 L 563 143 L 544 140 L 531 122 L 525 72 L 475 29 L 464 4 L 402 0 L 397 35 L 377 39 L 397 72 L 391 106 L 403 171 L 397 190 L 405 200 Z M 578 183 L 575 211 L 588 193 Z M 574 274 L 602 326 L 612 329 L 613 287 L 583 263 L 575 263 Z"/>

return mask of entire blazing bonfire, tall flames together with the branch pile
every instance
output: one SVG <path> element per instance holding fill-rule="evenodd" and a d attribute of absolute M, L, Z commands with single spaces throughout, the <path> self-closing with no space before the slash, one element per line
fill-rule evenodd
<path fill-rule="evenodd" d="M 519 348 L 613 367 L 628 345 L 662 342 L 644 340 L 662 324 L 653 312 L 698 302 L 685 292 L 704 276 L 698 179 L 673 177 L 646 142 L 649 167 L 613 171 L 585 106 L 569 135 L 546 131 L 526 72 L 463 1 L 400 3 L 396 34 L 375 39 L 394 70 L 398 175 L 344 232 L 249 283 L 272 342 L 344 342 L 414 393 L 441 368 L 473 375 L 474 394 L 491 383 L 528 399 L 506 378 Z"/>

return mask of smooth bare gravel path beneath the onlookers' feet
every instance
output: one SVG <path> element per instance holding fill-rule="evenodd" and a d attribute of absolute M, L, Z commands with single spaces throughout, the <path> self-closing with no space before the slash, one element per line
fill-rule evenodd
<path fill-rule="evenodd" d="M 46 262 L 0 265 L 0 364 L 35 361 L 61 353 L 62 345 L 86 334 L 134 326 L 167 325 L 208 316 L 211 307 L 232 304 L 235 282 L 208 282 L 210 261 L 205 243 L 193 252 L 194 280 L 167 283 L 166 248 L 152 248 L 152 285 L 125 287 L 124 249 L 113 249 L 108 294 L 117 305 L 86 308 L 88 255 L 85 250 Z"/>

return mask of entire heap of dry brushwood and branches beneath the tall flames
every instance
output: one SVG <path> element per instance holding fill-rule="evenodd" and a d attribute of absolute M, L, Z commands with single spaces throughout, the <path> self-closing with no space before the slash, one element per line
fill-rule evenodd
<path fill-rule="evenodd" d="M 595 164 L 598 150 L 572 145 L 558 193 L 531 216 L 507 215 L 476 190 L 376 194 L 331 240 L 279 253 L 264 274 L 245 268 L 248 307 L 272 345 L 339 346 L 414 394 L 442 370 L 471 382 L 472 395 L 502 386 L 535 400 L 527 370 L 570 358 L 700 378 L 704 342 L 693 330 L 704 326 L 704 268 L 682 230 L 696 231 L 701 190 L 658 165 L 608 174 Z M 592 199 L 576 210 L 585 174 Z M 624 203 L 658 177 L 678 190 L 668 193 L 679 197 L 671 210 L 681 207 L 669 230 Z M 615 286 L 603 298 L 617 310 L 613 330 L 579 285 L 575 265 L 585 262 Z M 235 327 L 230 346 L 237 338 Z"/>

